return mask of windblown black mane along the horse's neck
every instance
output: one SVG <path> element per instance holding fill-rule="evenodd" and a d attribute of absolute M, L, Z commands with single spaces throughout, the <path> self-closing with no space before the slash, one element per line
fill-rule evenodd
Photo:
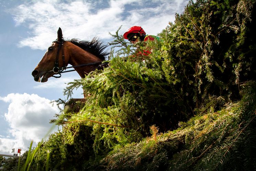
<path fill-rule="evenodd" d="M 107 56 L 109 55 L 109 52 L 106 51 L 106 48 L 108 45 L 103 44 L 100 40 L 98 40 L 96 37 L 94 37 L 91 41 L 82 40 L 79 39 L 71 39 L 67 40 L 74 45 L 77 45 L 78 47 L 82 48 L 85 51 L 88 51 L 95 56 L 99 57 L 101 60 L 108 60 Z"/>

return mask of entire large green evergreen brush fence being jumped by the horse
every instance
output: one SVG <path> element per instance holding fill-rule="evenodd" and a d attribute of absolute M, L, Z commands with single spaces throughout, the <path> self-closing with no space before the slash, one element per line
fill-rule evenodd
<path fill-rule="evenodd" d="M 86 100 L 57 101 L 62 130 L 31 167 L 255 170 L 255 11 L 255 0 L 189 1 L 160 41 L 137 44 L 119 27 L 109 67 L 64 90 Z"/>

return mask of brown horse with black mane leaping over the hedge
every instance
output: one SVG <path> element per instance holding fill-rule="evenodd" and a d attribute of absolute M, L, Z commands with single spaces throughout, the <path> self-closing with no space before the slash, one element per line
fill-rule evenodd
<path fill-rule="evenodd" d="M 65 73 L 68 64 L 84 78 L 96 68 L 104 66 L 102 61 L 109 55 L 106 51 L 107 45 L 100 40 L 93 38 L 92 41 L 79 41 L 78 39 L 64 40 L 61 28 L 57 31 L 58 38 L 53 41 L 45 52 L 42 60 L 32 71 L 35 81 L 46 82 L 48 78 L 59 78 L 61 73 Z M 73 71 L 73 70 L 72 70 Z M 59 74 L 59 77 L 54 75 Z"/>

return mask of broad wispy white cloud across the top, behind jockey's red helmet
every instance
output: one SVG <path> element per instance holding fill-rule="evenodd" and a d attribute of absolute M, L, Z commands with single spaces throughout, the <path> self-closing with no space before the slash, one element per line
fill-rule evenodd
<path fill-rule="evenodd" d="M 86 0 L 63 2 L 60 0 L 35 1 L 19 5 L 12 14 L 16 25 L 24 25 L 30 36 L 19 42 L 20 47 L 45 50 L 57 38 L 58 27 L 66 38 L 91 40 L 98 36 L 111 39 L 121 25 L 120 34 L 133 25 L 140 25 L 148 34 L 161 32 L 175 13 L 183 11 L 188 0 Z M 149 4 L 154 3 L 152 6 Z M 102 8 L 98 6 L 102 5 Z M 129 8 L 127 6 L 130 6 Z M 98 9 L 99 8 L 99 9 Z"/>

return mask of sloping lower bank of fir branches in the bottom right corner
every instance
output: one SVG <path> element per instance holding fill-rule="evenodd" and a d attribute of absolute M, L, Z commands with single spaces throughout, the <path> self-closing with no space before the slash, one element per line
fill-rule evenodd
<path fill-rule="evenodd" d="M 244 84 L 242 91 L 241 101 L 201 111 L 179 129 L 158 135 L 156 142 L 150 138 L 117 147 L 95 165 L 105 170 L 255 170 L 256 82 Z"/>

